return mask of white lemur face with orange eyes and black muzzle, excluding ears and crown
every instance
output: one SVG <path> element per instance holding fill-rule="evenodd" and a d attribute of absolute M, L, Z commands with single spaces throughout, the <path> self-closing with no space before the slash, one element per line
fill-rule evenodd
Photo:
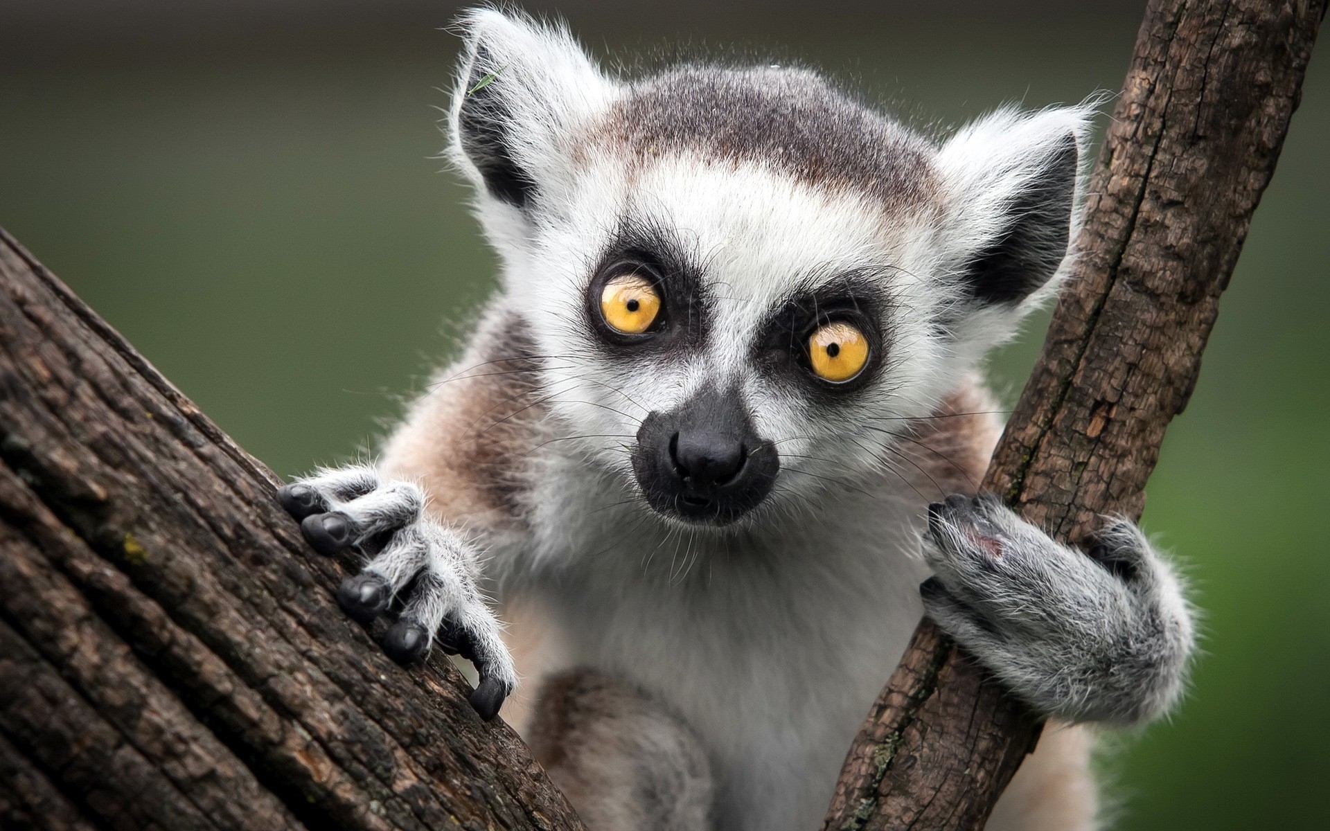
<path fill-rule="evenodd" d="M 888 437 L 875 416 L 926 407 L 894 388 L 928 350 L 899 336 L 916 303 L 898 274 L 915 265 L 900 265 L 912 258 L 898 226 L 918 227 L 926 201 L 888 223 L 858 194 L 621 145 L 583 181 L 548 251 L 581 261 L 556 290 L 581 300 L 580 319 L 537 328 L 585 352 L 559 372 L 576 391 L 560 398 L 585 402 L 568 404 L 576 424 L 630 436 L 656 511 L 728 524 L 767 499 L 854 487 L 871 465 L 853 443 Z"/>

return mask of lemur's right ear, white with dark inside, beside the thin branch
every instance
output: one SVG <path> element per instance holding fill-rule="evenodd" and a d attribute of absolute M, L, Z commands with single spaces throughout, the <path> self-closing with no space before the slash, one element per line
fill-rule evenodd
<path fill-rule="evenodd" d="M 1015 310 L 1052 286 L 1079 230 L 1092 114 L 1093 105 L 999 110 L 942 148 L 948 247 L 964 304 Z"/>

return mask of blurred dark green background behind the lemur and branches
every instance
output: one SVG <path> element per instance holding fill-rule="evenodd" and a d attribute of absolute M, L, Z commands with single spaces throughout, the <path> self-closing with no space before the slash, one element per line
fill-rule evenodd
<path fill-rule="evenodd" d="M 528 8 L 564 13 L 601 56 L 742 43 L 956 125 L 1117 90 L 1144 3 L 919 5 Z M 274 469 L 344 459 L 493 285 L 466 191 L 431 158 L 454 12 L 5 0 L 0 225 Z M 1172 722 L 1112 742 L 1121 828 L 1330 822 L 1326 134 L 1321 56 L 1150 483 L 1145 525 L 1188 564 L 1205 655 Z M 1041 324 L 994 362 L 1008 396 Z"/>

